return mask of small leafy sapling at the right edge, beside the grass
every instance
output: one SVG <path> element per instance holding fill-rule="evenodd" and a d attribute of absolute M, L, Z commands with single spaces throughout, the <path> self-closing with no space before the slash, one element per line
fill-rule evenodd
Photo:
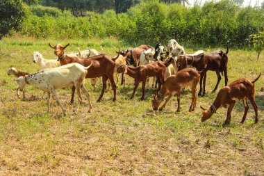
<path fill-rule="evenodd" d="M 258 52 L 258 58 L 261 51 L 264 49 L 264 31 L 258 34 L 249 35 L 249 40 L 254 47 L 254 50 Z"/>

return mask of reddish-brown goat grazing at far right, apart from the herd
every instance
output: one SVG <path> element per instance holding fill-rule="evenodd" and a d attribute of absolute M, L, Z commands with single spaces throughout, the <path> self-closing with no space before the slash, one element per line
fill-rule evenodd
<path fill-rule="evenodd" d="M 255 102 L 255 86 L 254 83 L 261 77 L 261 74 L 254 80 L 249 81 L 249 79 L 242 78 L 233 83 L 230 83 L 229 86 L 225 86 L 221 88 L 217 93 L 217 97 L 215 101 L 211 105 L 210 109 L 205 109 L 201 106 L 203 111 L 203 117 L 201 118 L 201 122 L 204 122 L 208 118 L 211 118 L 213 113 L 220 108 L 220 106 L 224 106 L 224 108 L 228 108 L 226 120 L 224 121 L 224 125 L 229 125 L 231 121 L 231 111 L 233 106 L 236 103 L 236 100 L 242 100 L 245 107 L 245 112 L 243 118 L 241 120 L 241 124 L 245 122 L 247 117 L 247 111 L 249 110 L 249 105 L 247 104 L 247 99 L 251 102 L 254 111 L 255 111 L 255 123 L 258 122 L 258 106 L 256 106 Z"/>

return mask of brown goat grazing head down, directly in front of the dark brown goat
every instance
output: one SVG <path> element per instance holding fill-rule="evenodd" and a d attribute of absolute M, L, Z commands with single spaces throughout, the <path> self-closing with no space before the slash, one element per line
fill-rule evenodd
<path fill-rule="evenodd" d="M 160 91 L 155 93 L 154 99 L 152 100 L 152 108 L 156 111 L 158 106 L 163 102 L 165 96 L 168 95 L 163 106 L 160 107 L 159 111 L 165 108 L 167 102 L 170 98 L 177 94 L 178 109 L 180 111 L 180 99 L 181 99 L 181 89 L 190 87 L 192 90 L 192 103 L 190 104 L 190 111 L 195 111 L 196 101 L 197 101 L 197 84 L 199 82 L 199 77 L 201 72 L 197 72 L 193 68 L 185 68 L 176 74 L 167 77 L 165 83 L 161 86 Z"/>

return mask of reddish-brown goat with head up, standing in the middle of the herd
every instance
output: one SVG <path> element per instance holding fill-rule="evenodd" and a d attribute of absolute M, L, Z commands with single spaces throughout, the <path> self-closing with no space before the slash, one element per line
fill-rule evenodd
<path fill-rule="evenodd" d="M 135 90 L 138 88 L 138 84 L 142 81 L 142 97 L 145 99 L 145 86 L 148 77 L 156 77 L 158 80 L 158 90 L 160 90 L 160 84 L 164 83 L 165 70 L 168 65 L 173 62 L 173 58 L 169 62 L 163 63 L 161 61 L 155 61 L 147 65 L 140 65 L 138 67 L 129 67 L 127 65 L 121 65 L 117 68 L 117 73 L 126 73 L 130 77 L 135 79 L 135 87 L 131 99 L 135 95 Z"/>

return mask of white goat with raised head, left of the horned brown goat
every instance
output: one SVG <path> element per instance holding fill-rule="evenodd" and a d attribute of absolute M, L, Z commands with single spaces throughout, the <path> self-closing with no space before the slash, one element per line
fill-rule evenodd
<path fill-rule="evenodd" d="M 39 51 L 33 51 L 32 60 L 33 63 L 38 63 L 42 69 L 60 66 L 60 62 L 57 59 L 45 59 Z"/>

